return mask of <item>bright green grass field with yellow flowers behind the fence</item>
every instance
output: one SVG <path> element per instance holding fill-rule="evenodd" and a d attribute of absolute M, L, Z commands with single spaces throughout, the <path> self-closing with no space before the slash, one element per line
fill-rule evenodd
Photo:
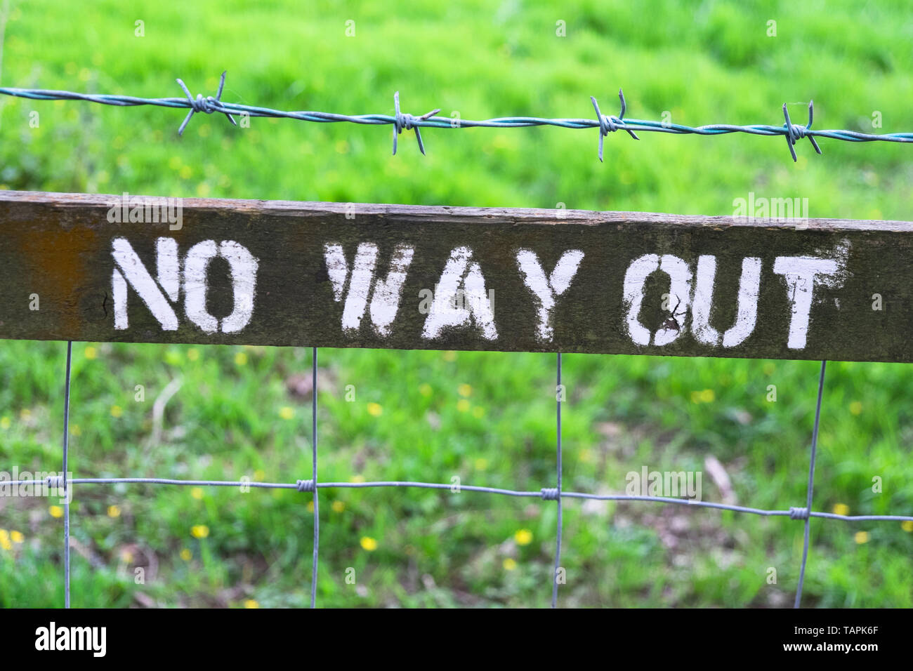
<path fill-rule="evenodd" d="M 748 5 L 748 6 L 741 6 Z M 560 7 L 560 8 L 559 8 Z M 179 96 L 286 110 L 464 119 L 592 117 L 913 129 L 906 2 L 555 4 L 205 2 L 8 5 L 3 86 Z M 136 21 L 143 37 L 136 37 Z M 770 21 L 776 37 L 769 37 Z M 347 21 L 355 35 L 347 37 Z M 563 21 L 566 37 L 556 35 Z M 352 26 L 350 24 L 349 26 Z M 795 104 L 792 104 L 795 103 Z M 180 110 L 0 100 L 0 188 L 729 215 L 749 192 L 807 197 L 813 217 L 913 218 L 908 146 L 561 129 L 423 133 Z M 29 124 L 37 111 L 37 128 Z M 877 113 L 877 114 L 876 114 Z M 873 116 L 875 114 L 875 116 Z M 880 116 L 883 128 L 873 129 Z M 2 244 L 2 243 L 0 243 Z M 24 288 L 27 295 L 27 288 Z M 890 309 L 890 305 L 887 305 Z M 0 343 L 0 470 L 60 467 L 65 344 Z M 320 351 L 320 479 L 539 489 L 554 481 L 553 354 Z M 817 362 L 566 355 L 564 488 L 703 471 L 703 498 L 803 505 Z M 77 476 L 310 477 L 310 350 L 76 343 Z M 152 404 L 181 380 L 156 430 Z M 908 366 L 829 364 L 814 508 L 913 511 Z M 347 385 L 355 399 L 346 400 Z M 144 400 L 137 399 L 142 385 Z M 776 386 L 776 401 L 770 398 Z M 709 477 L 725 467 L 731 492 Z M 873 477 L 882 478 L 880 493 Z M 304 606 L 310 495 L 78 487 L 76 606 Z M 62 604 L 62 520 L 0 498 L 0 605 Z M 321 492 L 325 606 L 544 606 L 555 506 L 410 489 Z M 645 503 L 567 501 L 561 605 L 792 604 L 802 523 Z M 913 605 L 913 524 L 812 521 L 803 603 Z M 144 584 L 134 582 L 135 569 Z M 776 582 L 769 582 L 770 569 Z M 354 569 L 355 581 L 346 581 Z"/>

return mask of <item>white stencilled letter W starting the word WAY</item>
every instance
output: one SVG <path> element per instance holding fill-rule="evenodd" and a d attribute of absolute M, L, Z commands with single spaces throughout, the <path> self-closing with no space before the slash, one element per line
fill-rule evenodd
<path fill-rule="evenodd" d="M 371 297 L 371 321 L 374 330 L 380 336 L 390 334 L 390 325 L 399 309 L 403 294 L 403 284 L 409 264 L 412 263 L 414 248 L 407 245 L 394 247 L 390 259 L 390 272 L 386 279 L 374 278 L 374 267 L 377 263 L 377 246 L 363 242 L 355 252 L 350 273 L 349 261 L 341 245 L 324 245 L 324 258 L 327 262 L 327 273 L 333 286 L 333 299 L 342 300 L 342 330 L 352 333 L 362 325 L 368 299 Z M 345 292 L 348 284 L 348 293 Z"/>

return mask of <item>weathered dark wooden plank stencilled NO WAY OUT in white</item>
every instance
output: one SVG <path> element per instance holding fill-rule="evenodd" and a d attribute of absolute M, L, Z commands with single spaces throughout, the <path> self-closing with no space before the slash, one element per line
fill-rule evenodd
<path fill-rule="evenodd" d="M 913 360 L 910 222 L 0 192 L 0 226 L 2 338 Z"/>

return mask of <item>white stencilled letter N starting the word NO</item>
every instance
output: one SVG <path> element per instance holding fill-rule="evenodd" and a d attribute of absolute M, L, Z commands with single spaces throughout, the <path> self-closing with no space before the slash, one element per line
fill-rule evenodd
<path fill-rule="evenodd" d="M 152 316 L 162 324 L 163 330 L 177 330 L 177 315 L 174 314 L 174 310 L 168 303 L 168 299 L 177 301 L 178 290 L 181 286 L 177 240 L 173 237 L 160 237 L 155 241 L 158 284 L 142 265 L 140 257 L 133 251 L 127 238 L 115 237 L 111 246 L 111 255 L 117 264 L 111 273 L 114 328 L 124 330 L 128 326 L 127 284 L 129 283 L 152 312 Z M 162 293 L 162 289 L 168 293 L 167 299 Z"/>

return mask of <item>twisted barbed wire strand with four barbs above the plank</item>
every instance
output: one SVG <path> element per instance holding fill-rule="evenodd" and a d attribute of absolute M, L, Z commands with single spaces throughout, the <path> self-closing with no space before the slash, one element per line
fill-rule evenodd
<path fill-rule="evenodd" d="M 488 119 L 484 121 L 471 121 L 467 119 L 439 117 L 436 116 L 440 110 L 432 110 L 415 116 L 400 110 L 399 91 L 394 93 L 394 114 L 336 114 L 321 111 L 288 111 L 272 110 L 265 107 L 255 107 L 253 105 L 244 105 L 236 102 L 225 102 L 222 99 L 222 92 L 225 88 L 226 72 L 222 73 L 219 80 L 219 87 L 215 96 L 204 97 L 198 93 L 196 98 L 191 94 L 190 89 L 184 84 L 182 79 L 177 79 L 178 85 L 184 91 L 185 98 L 136 98 L 134 96 L 122 96 L 100 93 L 75 93 L 73 91 L 62 91 L 53 89 L 12 89 L 0 88 L 0 94 L 14 96 L 16 98 L 26 98 L 29 100 L 84 100 L 95 102 L 101 105 L 114 105 L 118 107 L 136 107 L 140 105 L 155 105 L 158 107 L 170 107 L 177 109 L 189 110 L 184 121 L 178 128 L 178 135 L 184 134 L 187 124 L 197 112 L 213 114 L 218 112 L 225 114 L 228 121 L 237 125 L 233 115 L 248 117 L 270 117 L 274 119 L 296 119 L 298 121 L 312 121 L 315 123 L 360 123 L 368 125 L 393 125 L 394 126 L 394 154 L 397 149 L 397 136 L 403 131 L 415 131 L 415 140 L 418 142 L 418 149 L 425 154 L 425 143 L 422 141 L 422 128 L 529 128 L 531 126 L 555 126 L 558 128 L 572 129 L 599 129 L 599 160 L 603 161 L 603 141 L 605 137 L 614 131 L 626 131 L 633 139 L 639 140 L 635 131 L 647 132 L 666 132 L 675 135 L 725 135 L 733 132 L 744 132 L 751 135 L 765 136 L 783 136 L 786 138 L 787 147 L 792 155 L 792 161 L 797 161 L 795 149 L 796 142 L 803 138 L 808 138 L 812 143 L 815 152 L 821 153 L 821 148 L 815 141 L 815 138 L 829 138 L 831 140 L 841 140 L 844 142 L 913 142 L 913 132 L 894 132 L 873 134 L 860 131 L 845 130 L 817 130 L 812 128 L 814 116 L 814 105 L 808 103 L 808 121 L 802 124 L 792 123 L 789 111 L 786 109 L 786 103 L 783 103 L 783 124 L 781 126 L 772 126 L 766 124 L 752 124 L 747 126 L 738 126 L 728 123 L 710 124 L 707 126 L 686 126 L 671 121 L 646 121 L 642 119 L 625 119 L 624 113 L 627 110 L 627 104 L 624 100 L 622 89 L 618 89 L 618 99 L 621 102 L 621 110 L 618 116 L 603 114 L 599 108 L 599 103 L 591 97 L 593 109 L 596 112 L 595 119 L 545 119 L 540 117 L 499 117 L 498 119 Z"/>

